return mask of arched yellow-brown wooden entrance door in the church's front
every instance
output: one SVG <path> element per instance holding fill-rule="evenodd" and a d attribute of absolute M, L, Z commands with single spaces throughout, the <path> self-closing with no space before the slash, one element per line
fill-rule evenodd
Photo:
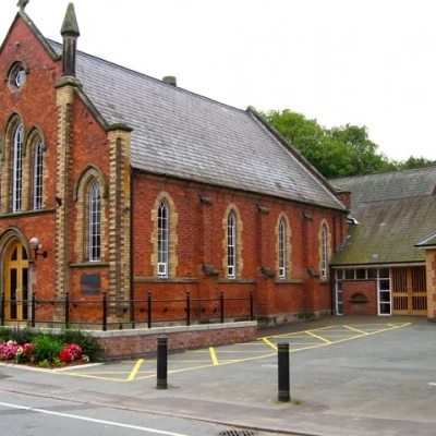
<path fill-rule="evenodd" d="M 4 318 L 9 324 L 28 319 L 28 259 L 24 246 L 14 242 L 7 254 Z"/>

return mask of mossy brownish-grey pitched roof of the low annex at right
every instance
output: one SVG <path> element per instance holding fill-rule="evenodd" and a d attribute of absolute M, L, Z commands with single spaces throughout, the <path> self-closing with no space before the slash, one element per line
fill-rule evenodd
<path fill-rule="evenodd" d="M 436 167 L 347 179 L 332 184 L 351 191 L 349 238 L 334 266 L 422 263 L 415 245 L 436 230 Z"/>

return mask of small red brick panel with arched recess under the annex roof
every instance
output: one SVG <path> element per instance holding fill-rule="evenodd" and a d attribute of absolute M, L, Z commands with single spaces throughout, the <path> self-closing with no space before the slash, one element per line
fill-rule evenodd
<path fill-rule="evenodd" d="M 358 295 L 366 302 L 359 302 Z M 343 280 L 342 298 L 344 315 L 377 315 L 376 280 Z"/>

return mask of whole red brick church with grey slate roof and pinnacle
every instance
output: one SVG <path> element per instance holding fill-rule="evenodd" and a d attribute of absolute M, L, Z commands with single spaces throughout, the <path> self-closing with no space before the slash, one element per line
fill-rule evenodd
<path fill-rule="evenodd" d="M 29 318 L 33 293 L 106 292 L 120 323 L 148 291 L 252 291 L 269 323 L 331 313 L 347 209 L 329 182 L 255 110 L 78 51 L 73 4 L 48 40 L 22 3 L 0 47 L 5 324 Z M 73 320 L 98 318 L 81 307 Z"/>

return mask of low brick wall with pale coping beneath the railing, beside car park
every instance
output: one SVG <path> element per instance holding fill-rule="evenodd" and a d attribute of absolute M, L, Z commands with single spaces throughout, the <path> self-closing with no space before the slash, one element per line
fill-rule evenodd
<path fill-rule="evenodd" d="M 157 339 L 161 335 L 168 338 L 168 351 L 251 341 L 257 337 L 257 322 L 132 330 L 93 330 L 87 334 L 106 349 L 105 360 L 118 360 L 156 354 Z"/>

